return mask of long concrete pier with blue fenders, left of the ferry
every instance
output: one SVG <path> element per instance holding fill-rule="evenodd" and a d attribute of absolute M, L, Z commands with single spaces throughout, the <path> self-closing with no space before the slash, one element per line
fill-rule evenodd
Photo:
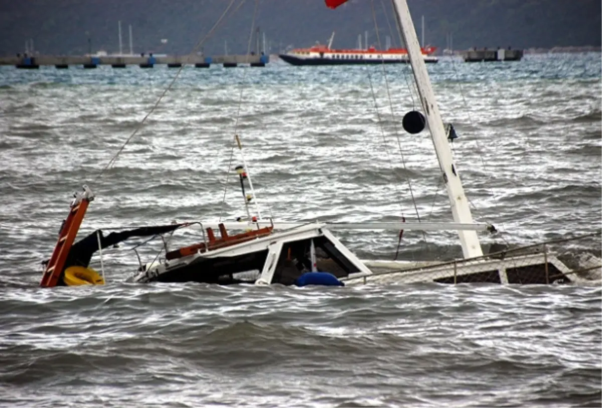
<path fill-rule="evenodd" d="M 252 67 L 264 67 L 270 61 L 268 55 L 217 55 L 205 57 L 194 56 L 161 56 L 153 55 L 103 55 L 103 56 L 70 56 L 61 57 L 56 55 L 36 55 L 35 57 L 0 57 L 0 65 L 12 65 L 22 69 L 36 69 L 40 66 L 55 66 L 57 69 L 66 69 L 69 66 L 82 66 L 84 68 L 96 68 L 99 65 L 110 65 L 113 68 L 125 68 L 137 65 L 141 68 L 152 68 L 155 65 L 167 65 L 170 68 L 179 68 L 183 65 L 193 65 L 197 68 L 208 68 L 211 64 L 223 64 L 223 66 L 250 65 Z"/>

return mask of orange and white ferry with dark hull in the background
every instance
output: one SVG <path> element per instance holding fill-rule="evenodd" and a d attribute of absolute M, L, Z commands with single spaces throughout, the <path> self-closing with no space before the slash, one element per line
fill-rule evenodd
<path fill-rule="evenodd" d="M 438 58 L 432 55 L 436 48 L 421 48 L 425 63 L 436 63 Z M 408 64 L 408 50 L 389 48 L 368 49 L 331 49 L 329 45 L 314 45 L 311 48 L 296 48 L 279 57 L 292 65 L 352 65 L 352 64 Z"/>

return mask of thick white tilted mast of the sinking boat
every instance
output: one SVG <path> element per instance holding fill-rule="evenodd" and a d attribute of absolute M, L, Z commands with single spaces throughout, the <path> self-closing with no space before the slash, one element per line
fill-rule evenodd
<path fill-rule="evenodd" d="M 452 206 L 453 219 L 456 223 L 472 224 L 473 216 L 470 214 L 468 200 L 464 195 L 464 188 L 462 188 L 458 169 L 453 161 L 452 149 L 450 149 L 447 136 L 445 135 L 439 107 L 437 106 L 435 93 L 433 93 L 433 88 L 430 84 L 429 73 L 426 70 L 424 58 L 420 52 L 420 44 L 418 43 L 416 29 L 414 28 L 414 23 L 408 9 L 408 3 L 406 0 L 393 0 L 393 5 L 397 19 L 399 20 L 399 26 L 402 29 L 403 40 L 408 49 L 414 79 L 416 80 L 416 86 L 420 94 L 420 102 L 429 125 L 439 167 L 443 172 L 447 195 Z M 483 255 L 479 237 L 475 231 L 459 230 L 458 235 L 462 244 L 464 258 Z"/>

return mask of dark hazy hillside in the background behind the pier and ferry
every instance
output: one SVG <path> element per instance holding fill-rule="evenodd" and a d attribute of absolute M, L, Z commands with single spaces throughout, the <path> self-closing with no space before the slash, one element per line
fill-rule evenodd
<path fill-rule="evenodd" d="M 129 49 L 131 24 L 135 52 L 187 54 L 229 2 L 0 0 L 0 54 L 22 52 L 26 39 L 33 39 L 36 50 L 44 54 L 83 54 L 88 52 L 87 33 L 94 51 L 116 52 L 118 20 L 124 51 Z M 255 2 L 246 0 L 225 19 L 205 44 L 208 54 L 222 54 L 225 42 L 229 52 L 246 51 Z M 393 25 L 391 2 L 374 0 L 374 6 L 379 31 L 388 35 L 389 23 Z M 424 15 L 426 42 L 441 48 L 447 32 L 453 32 L 456 49 L 602 45 L 602 0 L 409 0 L 409 6 L 418 34 Z M 338 47 L 354 46 L 365 30 L 369 41 L 376 42 L 371 0 L 352 0 L 334 11 L 323 0 L 259 0 L 256 22 L 272 52 L 288 45 L 326 42 L 333 30 Z M 162 45 L 161 39 L 167 44 Z"/>

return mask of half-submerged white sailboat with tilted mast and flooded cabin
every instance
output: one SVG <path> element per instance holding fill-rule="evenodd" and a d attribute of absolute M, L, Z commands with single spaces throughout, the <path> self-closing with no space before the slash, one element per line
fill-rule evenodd
<path fill-rule="evenodd" d="M 326 5 L 336 8 L 345 0 L 326 0 Z M 252 217 L 248 202 L 253 192 L 246 194 L 244 185 L 251 180 L 247 165 L 238 167 L 241 189 L 247 206 L 246 220 L 233 223 L 193 222 L 167 226 L 122 229 L 105 236 L 101 230 L 75 243 L 75 236 L 94 199 L 90 188 L 84 186 L 76 193 L 69 214 L 61 227 L 51 258 L 45 265 L 41 285 L 45 287 L 67 285 L 65 279 L 70 268 L 88 268 L 92 254 L 132 237 L 154 237 L 171 234 L 184 227 L 200 228 L 202 241 L 189 246 L 170 249 L 163 240 L 164 252 L 151 262 L 142 262 L 128 278 L 130 282 L 202 282 L 202 283 L 253 283 L 255 285 L 343 285 L 369 282 L 488 282 L 488 283 L 588 283 L 600 279 L 597 275 L 579 274 L 579 268 L 569 268 L 551 252 L 545 243 L 522 249 L 502 249 L 483 253 L 477 231 L 495 232 L 486 223 L 475 223 L 455 164 L 450 139 L 453 128 L 442 122 L 435 94 L 430 84 L 424 58 L 421 55 L 414 24 L 405 0 L 393 0 L 399 26 L 408 49 L 412 72 L 420 94 L 423 112 L 411 111 L 403 117 L 403 128 L 417 134 L 428 125 L 435 146 L 439 168 L 445 182 L 453 223 L 278 223 Z M 240 148 L 240 140 L 236 136 Z M 220 237 L 214 232 L 219 229 Z M 456 230 L 464 259 L 450 262 L 362 261 L 347 249 L 335 236 L 336 230 Z M 231 234 L 228 231 L 240 230 Z M 598 234 L 602 235 L 602 233 Z M 590 260 L 581 271 L 592 272 L 602 267 L 602 262 Z M 90 273 L 90 276 L 94 276 Z M 90 284 L 93 279 L 90 279 Z M 96 282 L 99 282 L 97 279 Z"/>

